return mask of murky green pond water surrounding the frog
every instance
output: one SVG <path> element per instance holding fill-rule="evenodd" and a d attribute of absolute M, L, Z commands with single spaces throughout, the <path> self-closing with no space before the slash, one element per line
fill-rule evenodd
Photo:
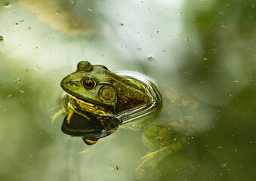
<path fill-rule="evenodd" d="M 255 3 L 0 1 L 1 180 L 254 180 Z M 80 60 L 199 102 L 195 137 L 158 167 L 123 127 L 86 146 L 61 132 L 61 79 Z"/>

